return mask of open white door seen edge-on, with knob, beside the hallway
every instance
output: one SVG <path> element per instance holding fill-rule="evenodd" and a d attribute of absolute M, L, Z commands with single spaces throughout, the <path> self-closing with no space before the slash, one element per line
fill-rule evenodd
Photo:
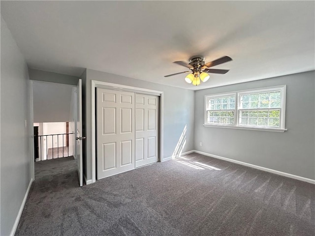
<path fill-rule="evenodd" d="M 82 167 L 82 140 L 85 137 L 82 137 L 82 80 L 79 79 L 77 84 L 77 119 L 76 119 L 76 130 L 75 130 L 75 139 L 76 139 L 76 156 L 78 163 L 78 176 L 80 181 L 80 186 L 83 185 L 83 167 Z"/>

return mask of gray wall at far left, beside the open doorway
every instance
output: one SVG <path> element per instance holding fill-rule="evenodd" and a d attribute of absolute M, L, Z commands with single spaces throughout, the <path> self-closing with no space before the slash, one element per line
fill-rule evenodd
<path fill-rule="evenodd" d="M 1 18 L 0 235 L 3 236 L 10 234 L 31 180 L 29 84 L 27 64 Z"/>

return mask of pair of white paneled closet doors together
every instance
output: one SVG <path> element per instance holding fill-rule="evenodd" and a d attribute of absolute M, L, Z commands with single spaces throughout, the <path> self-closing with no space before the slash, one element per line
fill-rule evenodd
<path fill-rule="evenodd" d="M 96 91 L 97 179 L 158 161 L 158 96 Z"/>

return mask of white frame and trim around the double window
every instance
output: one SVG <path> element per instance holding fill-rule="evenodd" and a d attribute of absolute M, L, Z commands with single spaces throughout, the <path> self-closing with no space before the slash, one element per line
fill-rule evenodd
<path fill-rule="evenodd" d="M 249 93 L 273 92 L 273 91 L 280 91 L 281 92 L 281 108 L 280 108 L 279 127 L 239 124 L 240 110 L 248 110 L 248 109 L 240 109 L 241 95 L 249 94 Z M 235 95 L 234 124 L 210 124 L 210 123 L 207 123 L 208 100 L 210 98 L 215 98 L 215 97 L 234 96 L 234 95 Z M 229 93 L 216 93 L 216 94 L 211 94 L 211 95 L 205 95 L 204 101 L 205 101 L 205 104 L 204 104 L 204 124 L 203 125 L 206 127 L 262 130 L 262 131 L 273 131 L 273 132 L 284 132 L 287 130 L 287 129 L 285 129 L 286 85 L 259 88 L 259 89 L 247 89 L 247 90 L 240 90 L 240 91 L 234 91 L 234 92 L 229 92 Z"/>

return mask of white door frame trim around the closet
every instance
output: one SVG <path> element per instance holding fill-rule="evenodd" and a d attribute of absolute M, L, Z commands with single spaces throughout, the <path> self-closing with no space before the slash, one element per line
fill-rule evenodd
<path fill-rule="evenodd" d="M 159 108 L 158 108 L 158 161 L 163 161 L 163 92 L 153 89 L 143 89 L 138 87 L 126 86 L 121 84 L 114 84 L 108 82 L 102 82 L 97 80 L 92 80 L 92 183 L 96 181 L 96 137 L 95 137 L 95 89 L 112 89 L 112 90 L 121 90 L 127 92 L 135 92 L 149 95 L 159 96 Z"/>

